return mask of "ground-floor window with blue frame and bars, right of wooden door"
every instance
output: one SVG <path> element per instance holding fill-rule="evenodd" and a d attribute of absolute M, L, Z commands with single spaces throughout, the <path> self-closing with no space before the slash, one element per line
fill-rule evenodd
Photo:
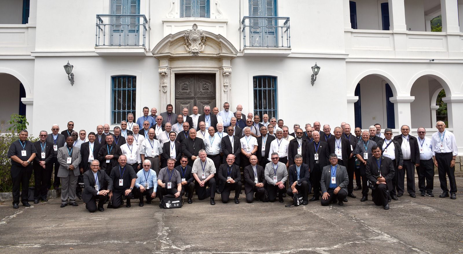
<path fill-rule="evenodd" d="M 254 76 L 252 79 L 254 93 L 254 114 L 263 118 L 268 114 L 269 118 L 278 119 L 276 77 L 274 76 Z"/>

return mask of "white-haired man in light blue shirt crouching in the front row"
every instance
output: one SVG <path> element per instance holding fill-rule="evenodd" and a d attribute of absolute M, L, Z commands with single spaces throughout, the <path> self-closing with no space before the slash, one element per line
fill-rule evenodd
<path fill-rule="evenodd" d="M 135 181 L 135 187 L 139 191 L 140 203 L 139 206 L 143 206 L 143 196 L 146 196 L 146 203 L 150 204 L 151 201 L 156 197 L 157 190 L 157 175 L 151 167 L 151 161 L 145 159 L 143 161 L 143 170 L 138 171 L 137 180 Z"/>

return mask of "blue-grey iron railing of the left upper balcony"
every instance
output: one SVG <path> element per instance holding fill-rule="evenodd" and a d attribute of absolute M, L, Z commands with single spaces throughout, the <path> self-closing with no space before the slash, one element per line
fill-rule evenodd
<path fill-rule="evenodd" d="M 146 19 L 145 15 L 97 14 L 95 47 L 144 47 L 146 40 L 147 23 L 148 20 Z"/>

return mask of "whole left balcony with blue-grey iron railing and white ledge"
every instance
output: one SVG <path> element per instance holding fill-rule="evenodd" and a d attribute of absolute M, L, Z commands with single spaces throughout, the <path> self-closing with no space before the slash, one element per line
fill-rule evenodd
<path fill-rule="evenodd" d="M 95 52 L 99 55 L 147 55 L 148 19 L 143 14 L 97 14 Z"/>

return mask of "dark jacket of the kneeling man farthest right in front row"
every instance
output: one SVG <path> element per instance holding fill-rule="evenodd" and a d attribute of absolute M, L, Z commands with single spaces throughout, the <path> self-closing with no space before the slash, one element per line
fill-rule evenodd
<path fill-rule="evenodd" d="M 392 164 L 392 160 L 388 157 L 381 156 L 381 175 L 386 179 L 389 191 L 392 190 L 392 179 L 394 178 L 394 173 L 395 170 L 394 165 Z M 371 156 L 367 159 L 366 175 L 367 179 L 373 183 L 378 181 L 376 177 L 379 176 L 379 169 L 375 156 Z M 377 186 L 378 184 L 375 184 L 375 188 Z"/>

